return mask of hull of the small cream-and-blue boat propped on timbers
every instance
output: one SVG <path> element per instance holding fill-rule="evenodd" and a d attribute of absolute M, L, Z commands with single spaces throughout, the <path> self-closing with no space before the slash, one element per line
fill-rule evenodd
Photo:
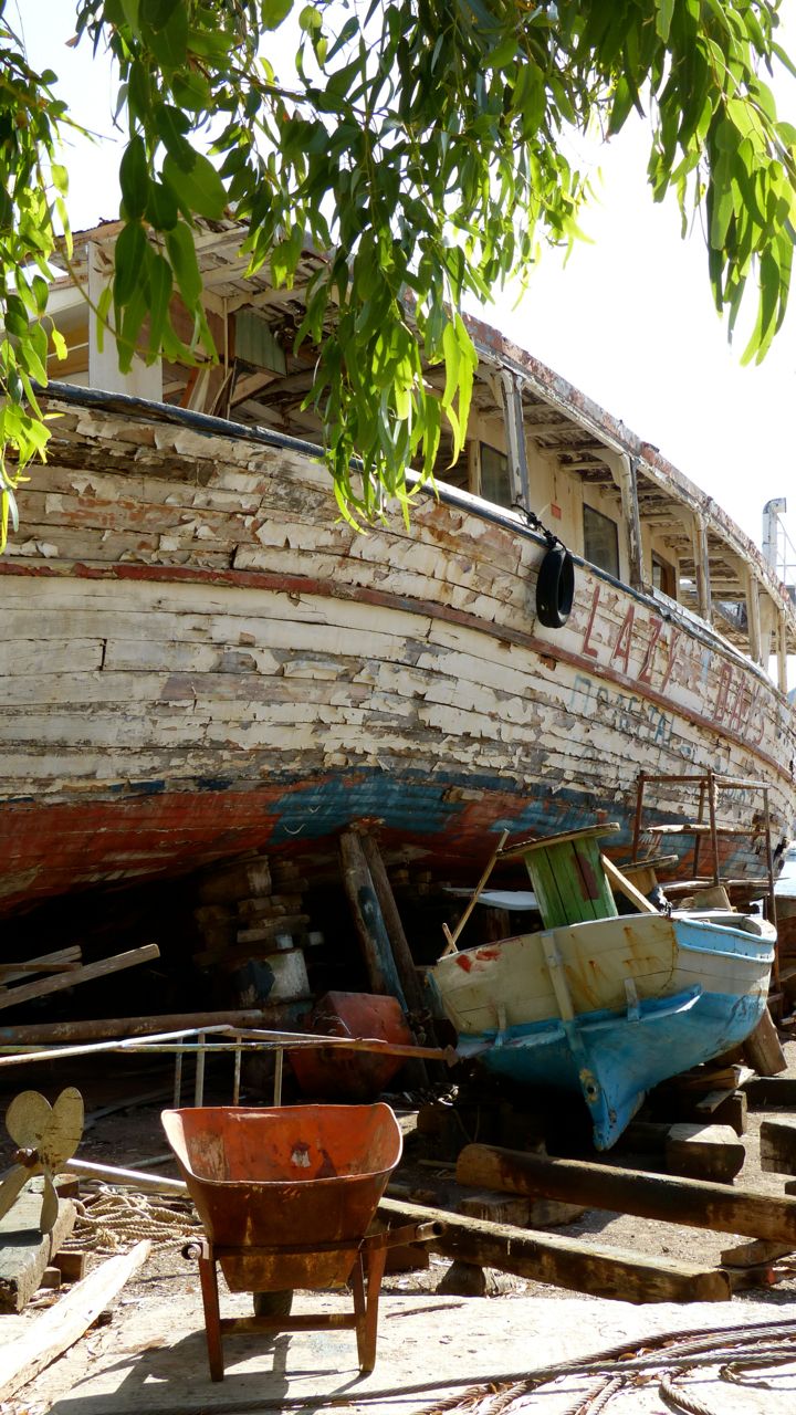
<path fill-rule="evenodd" d="M 639 914 L 520 935 L 449 954 L 432 983 L 463 1057 L 582 1095 L 595 1145 L 609 1149 L 653 1085 L 759 1022 L 773 930 L 731 918 Z"/>

